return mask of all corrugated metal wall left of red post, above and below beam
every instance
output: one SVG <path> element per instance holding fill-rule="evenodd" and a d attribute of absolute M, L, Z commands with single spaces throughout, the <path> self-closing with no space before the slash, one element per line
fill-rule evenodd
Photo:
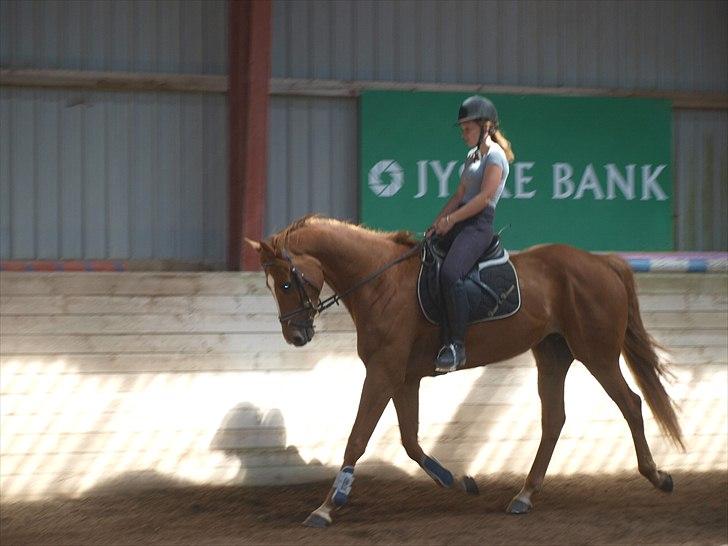
<path fill-rule="evenodd" d="M 6 67 L 227 71 L 225 0 L 0 6 Z M 224 267 L 224 95 L 3 87 L 0 104 L 3 259 Z"/>

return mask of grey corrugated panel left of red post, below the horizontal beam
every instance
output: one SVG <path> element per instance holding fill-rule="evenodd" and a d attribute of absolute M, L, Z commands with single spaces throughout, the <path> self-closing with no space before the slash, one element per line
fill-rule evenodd
<path fill-rule="evenodd" d="M 223 95 L 0 88 L 3 259 L 223 267 Z"/>

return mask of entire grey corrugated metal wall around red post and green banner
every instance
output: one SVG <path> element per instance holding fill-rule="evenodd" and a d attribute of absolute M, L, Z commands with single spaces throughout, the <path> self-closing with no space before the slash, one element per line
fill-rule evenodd
<path fill-rule="evenodd" d="M 272 76 L 727 92 L 727 12 L 276 0 Z M 224 74 L 226 18 L 225 0 L 3 0 L 0 63 Z M 3 88 L 0 101 L 0 256 L 224 262 L 223 96 Z M 675 124 L 678 247 L 725 249 L 726 113 Z M 268 232 L 310 211 L 357 218 L 356 99 L 273 97 L 269 142 Z"/>

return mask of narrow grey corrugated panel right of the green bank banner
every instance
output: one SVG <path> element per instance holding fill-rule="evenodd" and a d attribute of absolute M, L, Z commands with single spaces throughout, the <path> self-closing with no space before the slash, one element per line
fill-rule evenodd
<path fill-rule="evenodd" d="M 674 119 L 677 248 L 728 250 L 728 112 Z"/>

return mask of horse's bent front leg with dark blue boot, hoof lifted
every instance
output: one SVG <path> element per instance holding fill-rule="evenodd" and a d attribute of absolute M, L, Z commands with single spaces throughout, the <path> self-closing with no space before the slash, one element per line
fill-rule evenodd
<path fill-rule="evenodd" d="M 419 407 L 420 407 L 420 380 L 407 381 L 394 395 L 394 407 L 397 410 L 399 420 L 399 431 L 404 446 L 410 459 L 419 464 L 427 472 L 437 485 L 450 487 L 470 493 L 478 494 L 478 486 L 470 476 L 453 476 L 447 468 L 442 466 L 434 457 L 430 457 L 422 451 L 417 433 L 419 429 Z"/>

